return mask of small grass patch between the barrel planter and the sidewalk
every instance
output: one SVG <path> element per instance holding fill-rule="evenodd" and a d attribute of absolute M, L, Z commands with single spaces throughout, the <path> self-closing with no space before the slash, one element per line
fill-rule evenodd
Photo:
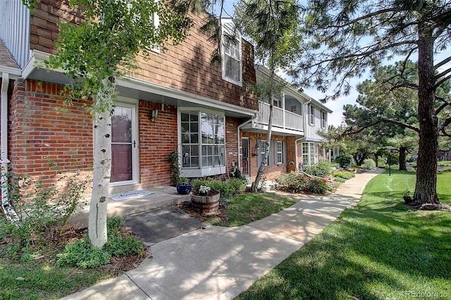
<path fill-rule="evenodd" d="M 227 206 L 228 220 L 215 216 L 205 220 L 213 225 L 241 226 L 277 213 L 298 201 L 294 196 L 279 196 L 273 193 L 240 194 L 231 199 Z"/>

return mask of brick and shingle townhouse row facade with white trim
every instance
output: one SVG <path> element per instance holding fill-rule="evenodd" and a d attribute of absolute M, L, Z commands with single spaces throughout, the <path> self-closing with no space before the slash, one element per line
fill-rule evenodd
<path fill-rule="evenodd" d="M 0 3 L 1 158 L 13 175 L 44 183 L 61 173 L 92 171 L 92 117 L 88 101 L 67 108 L 61 70 L 37 67 L 55 54 L 58 22 L 76 20 L 65 1 L 42 0 L 34 12 L 20 0 Z M 118 78 L 112 115 L 111 192 L 170 185 L 167 155 L 180 154 L 182 175 L 228 177 L 239 168 L 254 179 L 266 143 L 268 104 L 245 92 L 264 76 L 254 66 L 252 44 L 223 40 L 220 65 L 214 45 L 195 28 L 185 42 L 138 56 L 139 68 Z M 154 18 L 158 22 L 158 18 Z M 155 25 L 158 25 L 156 23 Z M 223 33 L 233 27 L 223 20 Z M 246 83 L 246 84 L 245 84 Z M 304 93 L 286 88 L 276 108 L 267 177 L 328 158 L 316 130 L 331 111 Z M 58 166 L 54 168 L 52 166 Z"/>

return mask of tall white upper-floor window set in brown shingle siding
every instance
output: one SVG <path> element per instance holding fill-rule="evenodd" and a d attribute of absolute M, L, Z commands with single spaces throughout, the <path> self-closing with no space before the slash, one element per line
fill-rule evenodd
<path fill-rule="evenodd" d="M 222 20 L 221 63 L 223 80 L 242 85 L 241 35 L 232 20 Z"/>

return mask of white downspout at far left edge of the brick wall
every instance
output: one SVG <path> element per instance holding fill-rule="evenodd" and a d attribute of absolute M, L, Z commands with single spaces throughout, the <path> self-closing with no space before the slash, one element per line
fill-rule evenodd
<path fill-rule="evenodd" d="M 6 218 L 14 222 L 18 215 L 14 211 L 8 199 L 8 87 L 9 74 L 1 74 L 1 208 Z"/>

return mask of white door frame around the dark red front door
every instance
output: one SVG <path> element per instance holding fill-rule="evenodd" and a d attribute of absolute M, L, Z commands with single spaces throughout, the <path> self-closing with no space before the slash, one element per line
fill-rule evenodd
<path fill-rule="evenodd" d="M 140 139 L 138 128 L 138 101 L 137 99 L 118 96 L 118 101 L 114 106 L 123 106 L 132 108 L 132 180 L 110 182 L 110 187 L 119 187 L 123 185 L 134 185 L 140 182 Z M 113 162 L 111 162 L 113 163 Z M 113 165 L 111 165 L 111 168 Z"/>

